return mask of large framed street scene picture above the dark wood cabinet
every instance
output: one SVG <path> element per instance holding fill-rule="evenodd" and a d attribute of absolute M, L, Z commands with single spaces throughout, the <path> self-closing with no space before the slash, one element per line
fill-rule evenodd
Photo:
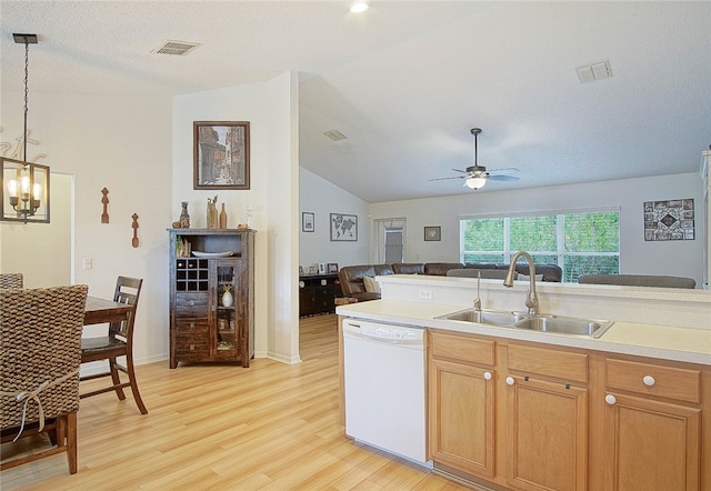
<path fill-rule="evenodd" d="M 193 189 L 249 189 L 249 121 L 193 121 Z"/>

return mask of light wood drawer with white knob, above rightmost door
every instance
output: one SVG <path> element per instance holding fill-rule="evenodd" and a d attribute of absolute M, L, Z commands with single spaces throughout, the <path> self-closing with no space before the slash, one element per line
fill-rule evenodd
<path fill-rule="evenodd" d="M 701 372 L 653 363 L 624 360 L 605 361 L 605 385 L 645 395 L 701 401 Z"/>

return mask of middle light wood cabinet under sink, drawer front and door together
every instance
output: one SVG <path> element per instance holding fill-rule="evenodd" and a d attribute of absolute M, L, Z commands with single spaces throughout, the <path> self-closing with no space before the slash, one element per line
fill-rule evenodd
<path fill-rule="evenodd" d="M 508 485 L 587 489 L 587 355 L 515 343 L 507 355 Z"/>

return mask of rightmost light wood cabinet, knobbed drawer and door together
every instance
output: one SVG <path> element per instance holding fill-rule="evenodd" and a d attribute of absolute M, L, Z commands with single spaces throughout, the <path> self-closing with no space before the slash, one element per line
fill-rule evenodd
<path fill-rule="evenodd" d="M 701 489 L 701 381 L 699 370 L 605 360 L 605 489 Z"/>

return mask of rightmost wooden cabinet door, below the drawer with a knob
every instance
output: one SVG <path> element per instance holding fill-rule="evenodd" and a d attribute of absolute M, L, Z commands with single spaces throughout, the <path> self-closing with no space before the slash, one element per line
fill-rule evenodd
<path fill-rule="evenodd" d="M 693 408 L 605 395 L 605 489 L 699 489 L 700 419 Z"/>

